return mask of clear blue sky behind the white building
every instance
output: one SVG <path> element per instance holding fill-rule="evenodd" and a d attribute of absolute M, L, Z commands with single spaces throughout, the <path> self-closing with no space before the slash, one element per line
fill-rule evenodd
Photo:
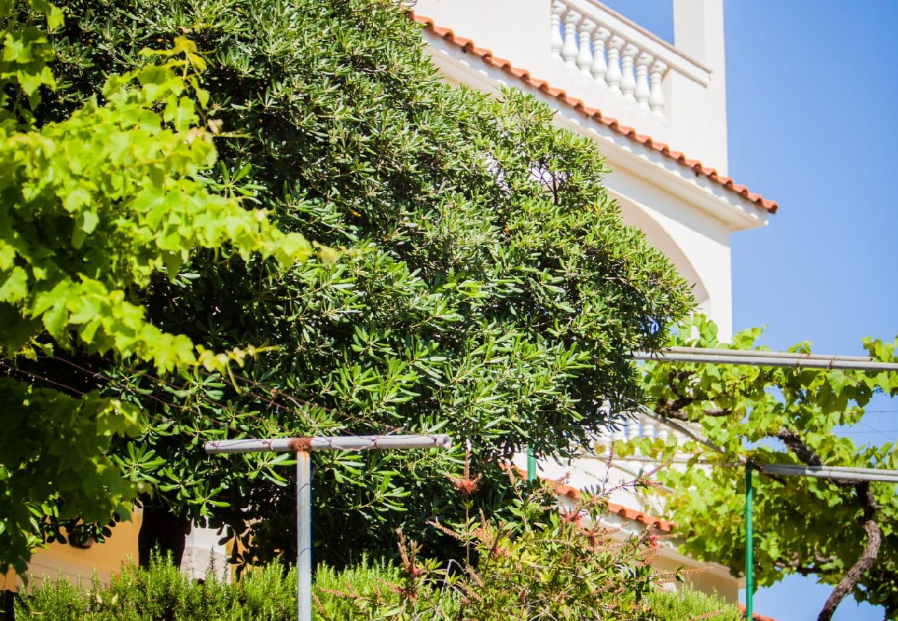
<path fill-rule="evenodd" d="M 605 4 L 673 39 L 671 0 Z M 728 173 L 780 205 L 733 237 L 734 327 L 766 325 L 777 349 L 862 354 L 861 338 L 898 333 L 898 2 L 728 0 L 725 21 Z M 867 409 L 852 438 L 898 438 L 898 399 Z M 755 610 L 814 619 L 829 592 L 795 577 L 758 592 Z M 835 616 L 882 618 L 850 599 Z"/>

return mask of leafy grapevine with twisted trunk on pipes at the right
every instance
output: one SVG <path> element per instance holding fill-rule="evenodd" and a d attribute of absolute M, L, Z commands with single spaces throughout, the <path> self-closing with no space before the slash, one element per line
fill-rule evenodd
<path fill-rule="evenodd" d="M 745 330 L 720 344 L 717 327 L 698 317 L 676 345 L 752 349 L 761 335 Z M 894 362 L 896 343 L 868 339 L 876 360 Z M 810 353 L 801 343 L 789 351 Z M 898 451 L 856 445 L 839 435 L 840 425 L 858 424 L 876 392 L 894 396 L 898 376 L 731 366 L 647 363 L 645 389 L 656 415 L 694 424 L 698 440 L 679 447 L 672 440 L 638 442 L 649 453 L 691 456 L 685 468 L 666 468 L 660 481 L 674 489 L 668 507 L 686 533 L 685 551 L 744 570 L 744 468 L 755 463 L 793 463 L 898 469 Z M 696 426 L 697 425 L 697 426 Z M 687 430 L 688 431 L 688 430 Z M 707 467 L 700 464 L 707 463 Z M 757 475 L 756 475 L 757 476 Z M 829 619 L 841 599 L 885 606 L 898 615 L 898 494 L 893 484 L 763 476 L 754 499 L 754 574 L 765 586 L 788 574 L 814 575 L 832 584 L 820 612 Z"/>

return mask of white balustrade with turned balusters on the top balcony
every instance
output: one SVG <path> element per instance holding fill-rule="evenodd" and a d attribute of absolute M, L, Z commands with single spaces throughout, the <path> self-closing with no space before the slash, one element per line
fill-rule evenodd
<path fill-rule="evenodd" d="M 707 69 L 593 0 L 554 0 L 550 20 L 553 60 L 647 114 L 665 117 L 664 81 L 672 67 L 707 83 Z"/>

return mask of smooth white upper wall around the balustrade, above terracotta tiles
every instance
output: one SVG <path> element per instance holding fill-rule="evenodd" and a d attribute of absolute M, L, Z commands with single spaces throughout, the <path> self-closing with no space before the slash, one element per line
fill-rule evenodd
<path fill-rule="evenodd" d="M 580 3 L 581 8 L 599 4 Z M 604 9 L 607 10 L 607 9 Z M 665 113 L 656 118 L 550 57 L 550 0 L 418 0 L 414 11 L 459 37 L 473 39 L 533 77 L 548 80 L 603 114 L 636 127 L 726 173 L 726 58 L 723 0 L 676 0 L 674 45 L 709 69 L 707 84 L 668 71 Z"/>

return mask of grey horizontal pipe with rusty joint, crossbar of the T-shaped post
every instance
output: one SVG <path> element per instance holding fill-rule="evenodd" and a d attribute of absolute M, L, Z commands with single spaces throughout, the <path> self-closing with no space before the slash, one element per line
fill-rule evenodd
<path fill-rule="evenodd" d="M 435 435 L 358 435 L 321 438 L 264 438 L 206 442 L 207 453 L 288 452 L 308 450 L 449 449 L 445 433 Z"/>

